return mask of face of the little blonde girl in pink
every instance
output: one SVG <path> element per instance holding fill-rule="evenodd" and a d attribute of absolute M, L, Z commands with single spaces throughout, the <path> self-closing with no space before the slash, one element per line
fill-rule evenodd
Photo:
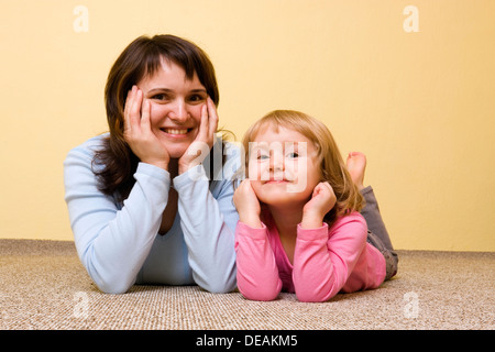
<path fill-rule="evenodd" d="M 274 125 L 250 143 L 249 178 L 266 205 L 306 204 L 321 179 L 315 144 L 301 133 Z"/>

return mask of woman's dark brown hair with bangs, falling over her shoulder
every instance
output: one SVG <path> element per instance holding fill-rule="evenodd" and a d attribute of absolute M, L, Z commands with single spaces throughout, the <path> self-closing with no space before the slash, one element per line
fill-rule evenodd
<path fill-rule="evenodd" d="M 155 35 L 140 36 L 128 45 L 108 75 L 105 103 L 110 135 L 94 158 L 94 166 L 101 166 L 94 170 L 100 190 L 120 202 L 135 183 L 133 174 L 139 163 L 123 138 L 125 98 L 133 85 L 146 75 L 153 76 L 163 59 L 182 67 L 188 79 L 196 73 L 216 106 L 220 100 L 213 65 L 196 44 L 174 35 Z"/>

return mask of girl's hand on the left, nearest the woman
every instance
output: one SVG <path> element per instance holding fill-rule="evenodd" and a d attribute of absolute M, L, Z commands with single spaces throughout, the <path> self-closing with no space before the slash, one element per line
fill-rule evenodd
<path fill-rule="evenodd" d="M 240 221 L 252 228 L 262 228 L 260 200 L 249 179 L 244 179 L 235 189 L 233 202 L 238 209 Z"/>

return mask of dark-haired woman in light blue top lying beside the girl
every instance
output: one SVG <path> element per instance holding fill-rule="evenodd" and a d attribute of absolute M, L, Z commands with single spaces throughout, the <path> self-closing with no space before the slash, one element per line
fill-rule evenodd
<path fill-rule="evenodd" d="M 64 163 L 78 255 L 95 284 L 235 288 L 232 176 L 240 153 L 216 135 L 215 69 L 195 44 L 141 36 L 105 91 L 110 132 Z"/>

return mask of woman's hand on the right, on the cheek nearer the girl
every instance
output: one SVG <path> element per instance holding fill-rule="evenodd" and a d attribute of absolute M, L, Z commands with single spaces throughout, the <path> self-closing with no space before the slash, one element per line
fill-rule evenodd
<path fill-rule="evenodd" d="M 198 134 L 178 161 L 179 174 L 184 174 L 189 168 L 202 163 L 213 146 L 217 128 L 217 108 L 208 97 L 206 105 L 201 108 L 201 121 L 199 123 Z"/>

